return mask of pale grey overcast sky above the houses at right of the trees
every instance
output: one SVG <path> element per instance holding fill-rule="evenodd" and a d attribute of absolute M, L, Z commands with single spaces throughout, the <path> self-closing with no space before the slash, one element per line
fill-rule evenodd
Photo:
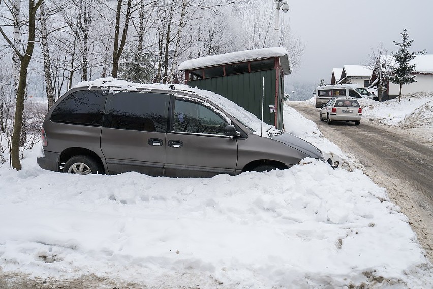
<path fill-rule="evenodd" d="M 269 0 L 271 1 L 271 0 Z M 291 80 L 329 83 L 333 68 L 365 64 L 371 48 L 382 43 L 396 51 L 403 29 L 414 39 L 410 51 L 433 54 L 432 0 L 287 0 L 280 12 L 305 43 L 300 67 Z"/>

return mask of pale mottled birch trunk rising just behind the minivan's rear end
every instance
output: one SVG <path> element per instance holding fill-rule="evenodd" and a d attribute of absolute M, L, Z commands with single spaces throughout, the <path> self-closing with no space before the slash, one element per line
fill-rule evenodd
<path fill-rule="evenodd" d="M 49 56 L 48 50 L 48 41 L 47 41 L 47 15 L 45 13 L 45 3 L 42 3 L 40 6 L 41 10 L 41 46 L 42 46 L 42 54 L 44 55 L 44 73 L 45 73 L 45 91 L 47 92 L 47 100 L 48 100 L 48 110 L 54 104 L 54 89 L 53 83 L 51 79 L 51 60 Z"/>

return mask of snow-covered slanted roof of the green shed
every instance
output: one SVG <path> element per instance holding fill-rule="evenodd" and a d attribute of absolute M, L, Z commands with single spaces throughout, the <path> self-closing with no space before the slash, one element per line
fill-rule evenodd
<path fill-rule="evenodd" d="M 219 54 L 213 56 L 200 57 L 182 62 L 179 65 L 179 70 L 192 70 L 210 66 L 223 65 L 228 63 L 245 62 L 252 60 L 260 60 L 271 57 L 280 57 L 280 64 L 284 74 L 293 72 L 292 63 L 290 61 L 289 52 L 285 48 L 271 47 L 253 50 L 244 50 Z"/>

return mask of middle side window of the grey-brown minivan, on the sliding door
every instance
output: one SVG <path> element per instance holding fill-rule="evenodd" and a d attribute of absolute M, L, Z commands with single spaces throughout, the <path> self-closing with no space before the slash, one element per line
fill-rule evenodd
<path fill-rule="evenodd" d="M 104 127 L 166 132 L 170 95 L 115 92 L 107 100 Z"/>

